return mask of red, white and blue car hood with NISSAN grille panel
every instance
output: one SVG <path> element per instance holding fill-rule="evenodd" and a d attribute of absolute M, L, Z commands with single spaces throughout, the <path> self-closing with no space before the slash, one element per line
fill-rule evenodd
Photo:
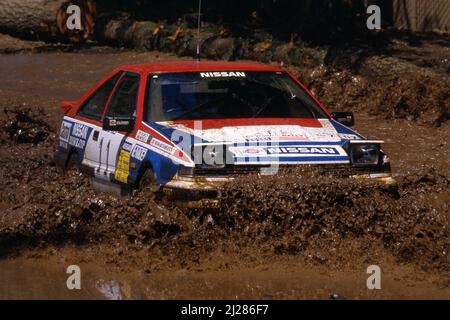
<path fill-rule="evenodd" d="M 348 163 L 343 149 L 362 136 L 330 119 L 220 119 L 147 123 L 174 144 L 227 144 L 234 163 Z M 182 138 L 181 138 L 182 137 Z"/>

